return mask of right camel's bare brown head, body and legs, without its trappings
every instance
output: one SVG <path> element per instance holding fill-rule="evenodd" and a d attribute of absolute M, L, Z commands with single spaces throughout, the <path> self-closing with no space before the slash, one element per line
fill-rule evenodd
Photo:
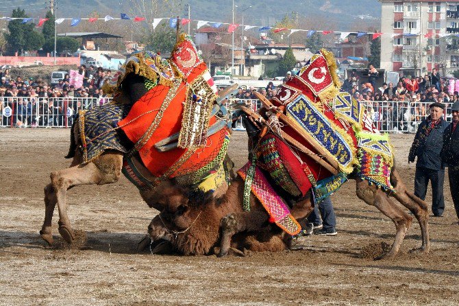
<path fill-rule="evenodd" d="M 257 143 L 260 130 L 247 119 L 245 126 L 249 134 L 249 143 Z M 379 209 L 395 224 L 396 233 L 392 247 L 377 259 L 388 259 L 397 255 L 412 222 L 412 217 L 399 208 L 391 198 L 395 198 L 408 208 L 421 226 L 421 247 L 411 252 L 429 252 L 427 204 L 406 189 L 395 165 L 390 174 L 390 183 L 395 188 L 395 193 L 370 185 L 367 180 L 358 176 L 351 175 L 349 178 L 357 181 L 358 198 Z M 228 254 L 242 255 L 244 248 L 271 251 L 290 248 L 291 236 L 280 233 L 280 228 L 270 224 L 269 214 L 253 193 L 250 196 L 251 210 L 243 211 L 244 181 L 242 178 L 236 178 L 229 187 L 225 186 L 222 189 L 226 189 L 220 191 L 225 193 L 225 196 L 210 197 L 207 200 L 193 200 L 186 196 L 186 191 L 175 189 L 174 200 L 165 199 L 162 203 L 163 211 L 153 218 L 149 225 L 152 241 L 165 239 L 174 250 L 185 255 L 206 255 L 215 252 L 219 257 Z M 291 202 L 293 199 L 284 197 L 284 201 Z M 301 220 L 313 209 L 309 191 L 290 212 L 295 219 Z M 253 235 L 260 233 L 263 233 L 263 238 L 252 239 Z M 263 241 L 264 244 L 254 245 L 254 241 Z"/>

